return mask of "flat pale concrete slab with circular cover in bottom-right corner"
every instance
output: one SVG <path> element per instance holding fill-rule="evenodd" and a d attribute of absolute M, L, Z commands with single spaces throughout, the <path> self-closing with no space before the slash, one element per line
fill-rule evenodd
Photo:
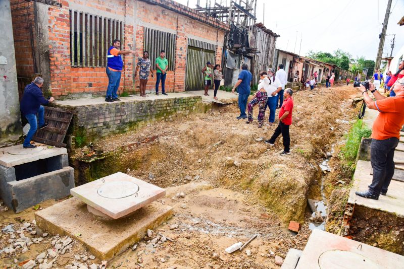
<path fill-rule="evenodd" d="M 316 229 L 296 269 L 395 269 L 402 268 L 403 264 L 404 256 Z"/>

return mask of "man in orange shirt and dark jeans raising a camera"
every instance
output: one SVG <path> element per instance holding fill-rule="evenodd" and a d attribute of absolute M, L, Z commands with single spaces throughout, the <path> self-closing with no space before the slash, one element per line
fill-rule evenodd
<path fill-rule="evenodd" d="M 394 175 L 394 150 L 398 145 L 400 129 L 404 124 L 404 79 L 396 82 L 395 97 L 386 98 L 375 90 L 373 83 L 370 83 L 369 86 L 376 101 L 369 97 L 363 85 L 360 90 L 368 108 L 379 111 L 379 115 L 373 123 L 370 145 L 373 180 L 368 190 L 355 193 L 365 198 L 378 200 L 379 194 L 386 195 Z"/>

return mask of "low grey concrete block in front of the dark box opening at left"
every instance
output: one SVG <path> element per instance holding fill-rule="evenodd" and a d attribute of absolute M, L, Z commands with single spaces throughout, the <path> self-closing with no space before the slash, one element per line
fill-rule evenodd
<path fill-rule="evenodd" d="M 7 186 L 11 195 L 4 202 L 18 213 L 44 200 L 70 195 L 70 189 L 74 187 L 74 169 L 67 166 L 31 178 L 8 182 Z"/>

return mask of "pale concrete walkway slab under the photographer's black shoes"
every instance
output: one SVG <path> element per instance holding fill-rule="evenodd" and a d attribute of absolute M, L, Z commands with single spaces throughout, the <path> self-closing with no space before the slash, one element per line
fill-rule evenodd
<path fill-rule="evenodd" d="M 388 188 L 387 195 L 380 195 L 378 200 L 367 199 L 355 194 L 357 190 L 367 190 L 372 182 L 372 166 L 370 162 L 357 162 L 354 174 L 354 184 L 349 192 L 348 203 L 364 206 L 371 209 L 380 210 L 395 214 L 404 218 L 404 183 L 392 180 Z"/>

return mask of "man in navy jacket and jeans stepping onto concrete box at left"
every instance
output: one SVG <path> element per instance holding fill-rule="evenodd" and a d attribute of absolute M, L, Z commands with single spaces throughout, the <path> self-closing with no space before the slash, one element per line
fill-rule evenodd
<path fill-rule="evenodd" d="M 24 89 L 24 95 L 21 98 L 20 107 L 23 116 L 28 120 L 29 131 L 27 137 L 24 140 L 23 148 L 36 148 L 35 145 L 31 145 L 31 139 L 34 136 L 36 129 L 38 128 L 38 123 L 36 119 L 36 114 L 38 114 L 39 119 L 39 129 L 45 128 L 48 124 L 45 123 L 44 114 L 45 109 L 42 105 L 47 105 L 49 102 L 53 102 L 54 98 L 51 97 L 49 100 L 43 97 L 41 87 L 43 85 L 43 79 L 41 77 L 36 77 L 34 82 L 28 84 Z"/>

